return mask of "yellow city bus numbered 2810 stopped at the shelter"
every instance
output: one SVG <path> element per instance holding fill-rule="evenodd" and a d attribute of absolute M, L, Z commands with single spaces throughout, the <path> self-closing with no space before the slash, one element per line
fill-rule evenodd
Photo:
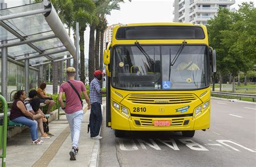
<path fill-rule="evenodd" d="M 125 131 L 210 128 L 210 78 L 215 51 L 204 25 L 142 23 L 116 25 L 104 51 L 106 126 Z"/>

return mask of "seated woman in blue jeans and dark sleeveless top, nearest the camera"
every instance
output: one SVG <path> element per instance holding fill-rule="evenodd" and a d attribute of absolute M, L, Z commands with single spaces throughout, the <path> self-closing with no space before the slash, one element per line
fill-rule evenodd
<path fill-rule="evenodd" d="M 41 145 L 42 140 L 37 136 L 37 122 L 33 120 L 33 114 L 26 110 L 23 100 L 26 99 L 26 92 L 20 90 L 14 94 L 14 102 L 11 106 L 10 120 L 24 124 L 30 128 L 32 144 Z"/>

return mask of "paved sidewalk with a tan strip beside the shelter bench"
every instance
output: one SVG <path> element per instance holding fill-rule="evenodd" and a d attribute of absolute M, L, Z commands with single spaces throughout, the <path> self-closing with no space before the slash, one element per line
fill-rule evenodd
<path fill-rule="evenodd" d="M 87 105 L 84 105 L 84 108 L 87 108 Z M 97 166 L 99 140 L 92 140 L 90 133 L 87 134 L 89 116 L 90 110 L 87 110 L 80 131 L 76 161 L 69 160 L 70 129 L 66 116 L 60 115 L 59 120 L 49 123 L 50 132 L 55 136 L 43 140 L 43 145 L 31 145 L 29 129 L 8 140 L 6 166 L 89 166 L 90 162 L 90 166 Z"/>

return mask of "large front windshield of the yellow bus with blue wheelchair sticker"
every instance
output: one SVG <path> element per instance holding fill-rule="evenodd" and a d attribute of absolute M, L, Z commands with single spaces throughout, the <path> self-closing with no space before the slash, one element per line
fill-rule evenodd
<path fill-rule="evenodd" d="M 112 86 L 127 90 L 191 90 L 209 85 L 206 45 L 142 45 L 153 64 L 135 45 L 114 46 Z M 171 62 L 174 62 L 173 64 Z"/>

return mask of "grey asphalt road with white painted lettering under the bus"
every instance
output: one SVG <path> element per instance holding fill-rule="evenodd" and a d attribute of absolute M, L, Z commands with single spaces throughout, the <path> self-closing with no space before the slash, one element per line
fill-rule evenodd
<path fill-rule="evenodd" d="M 127 133 L 102 126 L 99 166 L 255 166 L 256 105 L 211 100 L 211 127 L 181 133 Z M 105 112 L 104 112 L 105 113 Z"/>

